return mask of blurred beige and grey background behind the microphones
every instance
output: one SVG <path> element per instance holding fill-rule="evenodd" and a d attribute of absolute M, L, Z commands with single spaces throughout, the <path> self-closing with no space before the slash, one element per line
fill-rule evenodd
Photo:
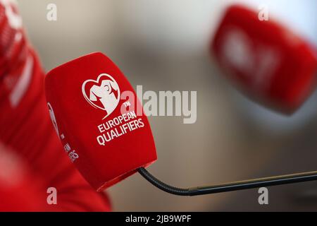
<path fill-rule="evenodd" d="M 46 70 L 89 52 L 104 52 L 145 90 L 196 90 L 197 123 L 150 117 L 159 160 L 150 171 L 175 186 L 198 186 L 317 169 L 317 94 L 292 117 L 249 101 L 223 78 L 209 40 L 223 0 L 18 1 Z M 317 43 L 317 1 L 239 1 Z M 46 20 L 54 3 L 58 20 Z M 134 175 L 108 190 L 116 211 L 317 210 L 317 183 L 201 197 L 163 193 Z"/>

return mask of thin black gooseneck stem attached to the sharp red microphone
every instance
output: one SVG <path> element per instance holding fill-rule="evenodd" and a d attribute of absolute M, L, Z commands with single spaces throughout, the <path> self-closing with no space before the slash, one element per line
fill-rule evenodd
<path fill-rule="evenodd" d="M 148 182 L 156 186 L 157 188 L 166 191 L 170 194 L 178 196 L 200 196 L 205 194 L 216 194 L 227 191 L 238 191 L 244 189 L 256 189 L 263 186 L 276 186 L 282 184 L 294 184 L 301 182 L 311 182 L 317 180 L 317 171 L 304 172 L 299 174 L 288 174 L 277 177 L 266 177 L 260 179 L 251 179 L 242 182 L 231 182 L 227 184 L 218 184 L 213 186 L 198 186 L 189 189 L 180 189 L 175 186 L 170 186 L 161 182 L 154 177 L 147 169 L 143 167 L 138 169 L 139 174 L 142 175 Z"/>

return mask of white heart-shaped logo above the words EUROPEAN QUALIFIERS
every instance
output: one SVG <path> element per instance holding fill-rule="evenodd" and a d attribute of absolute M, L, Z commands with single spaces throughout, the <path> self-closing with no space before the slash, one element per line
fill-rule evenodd
<path fill-rule="evenodd" d="M 85 81 L 82 84 L 82 94 L 90 105 L 106 111 L 106 117 L 116 109 L 120 101 L 118 83 L 106 73 L 102 73 L 97 81 Z"/>

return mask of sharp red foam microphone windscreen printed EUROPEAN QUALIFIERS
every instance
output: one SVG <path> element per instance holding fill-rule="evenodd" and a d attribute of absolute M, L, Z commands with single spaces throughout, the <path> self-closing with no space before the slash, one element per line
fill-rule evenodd
<path fill-rule="evenodd" d="M 66 153 L 97 191 L 157 159 L 149 121 L 132 85 L 104 54 L 58 66 L 47 74 L 45 89 Z"/>

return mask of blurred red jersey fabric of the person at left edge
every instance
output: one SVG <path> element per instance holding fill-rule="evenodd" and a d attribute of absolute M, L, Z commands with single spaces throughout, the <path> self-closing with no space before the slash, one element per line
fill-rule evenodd
<path fill-rule="evenodd" d="M 17 12 L 0 4 L 0 143 L 18 156 L 25 174 L 12 186 L 18 173 L 0 175 L 0 210 L 110 211 L 108 196 L 94 191 L 64 152 L 49 117 L 42 66 L 6 10 Z M 0 155 L 1 171 L 10 159 Z M 57 205 L 46 202 L 49 187 L 57 190 Z"/>

